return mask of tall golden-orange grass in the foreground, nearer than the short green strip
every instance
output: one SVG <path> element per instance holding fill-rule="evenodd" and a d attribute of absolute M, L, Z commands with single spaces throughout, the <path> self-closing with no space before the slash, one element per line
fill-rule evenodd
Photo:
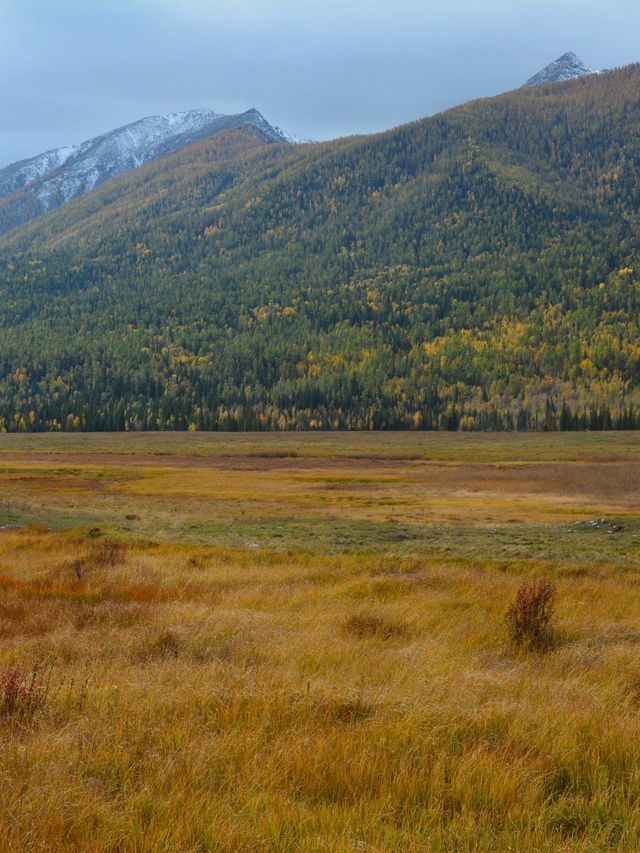
<path fill-rule="evenodd" d="M 33 594 L 84 547 L 45 531 L 0 540 L 16 581 L 0 609 L 3 671 L 17 667 L 24 690 L 30 661 L 48 655 L 56 684 L 75 685 L 50 689 L 29 725 L 14 713 L 0 726 L 5 849 L 640 840 L 633 578 L 558 569 L 572 642 L 514 658 L 504 613 L 527 579 L 490 561 L 129 545 L 82 582 L 98 599 L 70 599 L 70 576 Z M 154 596 L 132 601 L 152 578 Z M 398 583 L 401 594 L 373 592 Z M 363 595 L 345 613 L 354 585 Z"/>

